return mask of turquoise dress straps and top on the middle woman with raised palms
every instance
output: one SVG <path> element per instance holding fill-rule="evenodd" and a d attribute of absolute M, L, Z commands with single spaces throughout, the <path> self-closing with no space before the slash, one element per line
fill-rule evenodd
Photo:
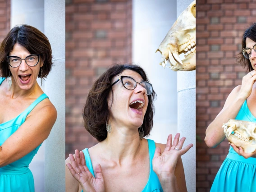
<path fill-rule="evenodd" d="M 155 172 L 153 171 L 153 167 L 152 167 L 152 160 L 155 154 L 155 142 L 153 140 L 147 139 L 147 143 L 148 143 L 148 150 L 149 150 L 150 172 L 149 172 L 148 181 L 146 183 L 146 186 L 142 190 L 142 192 L 163 192 L 163 188 L 160 184 L 160 181 L 157 175 L 155 174 Z M 88 152 L 88 148 L 82 150 L 82 152 L 84 153 L 85 161 L 88 169 L 90 170 L 93 177 L 95 177 L 92 164 L 91 164 L 91 158 Z"/>

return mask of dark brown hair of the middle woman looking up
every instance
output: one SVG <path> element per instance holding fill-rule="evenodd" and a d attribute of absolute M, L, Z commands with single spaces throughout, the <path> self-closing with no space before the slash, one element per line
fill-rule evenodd
<path fill-rule="evenodd" d="M 111 87 L 112 79 L 121 74 L 125 69 L 139 73 L 144 81 L 148 81 L 145 71 L 140 66 L 133 64 L 116 64 L 93 83 L 87 96 L 83 108 L 84 127 L 99 142 L 102 142 L 107 137 L 106 121 L 110 114 L 107 99 L 110 91 L 112 92 L 113 98 L 113 90 Z M 144 137 L 150 134 L 153 127 L 153 115 L 155 111 L 153 101 L 155 98 L 156 93 L 153 91 L 152 95 L 148 96 L 148 106 L 142 124 Z"/>

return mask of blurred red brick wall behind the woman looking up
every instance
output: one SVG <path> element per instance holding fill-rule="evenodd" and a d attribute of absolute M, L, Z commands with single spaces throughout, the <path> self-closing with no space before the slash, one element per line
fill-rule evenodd
<path fill-rule="evenodd" d="M 97 143 L 82 124 L 92 82 L 132 60 L 132 0 L 66 0 L 66 156 Z"/>

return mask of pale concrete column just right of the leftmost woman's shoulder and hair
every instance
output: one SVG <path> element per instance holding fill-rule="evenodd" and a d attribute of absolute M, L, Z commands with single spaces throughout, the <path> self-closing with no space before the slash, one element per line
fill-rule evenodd
<path fill-rule="evenodd" d="M 46 140 L 45 191 L 65 191 L 65 1 L 45 0 L 45 34 L 53 52 L 45 92 L 55 105 L 58 118 Z M 54 91 L 53 91 L 54 90 Z M 48 161 L 49 159 L 50 161 Z"/>

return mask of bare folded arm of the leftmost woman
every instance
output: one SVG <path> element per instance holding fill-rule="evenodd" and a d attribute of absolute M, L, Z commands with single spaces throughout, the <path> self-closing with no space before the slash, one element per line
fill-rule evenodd
<path fill-rule="evenodd" d="M 57 118 L 57 111 L 49 100 L 41 102 L 18 130 L 2 144 L 0 167 L 27 155 L 49 136 Z"/>

